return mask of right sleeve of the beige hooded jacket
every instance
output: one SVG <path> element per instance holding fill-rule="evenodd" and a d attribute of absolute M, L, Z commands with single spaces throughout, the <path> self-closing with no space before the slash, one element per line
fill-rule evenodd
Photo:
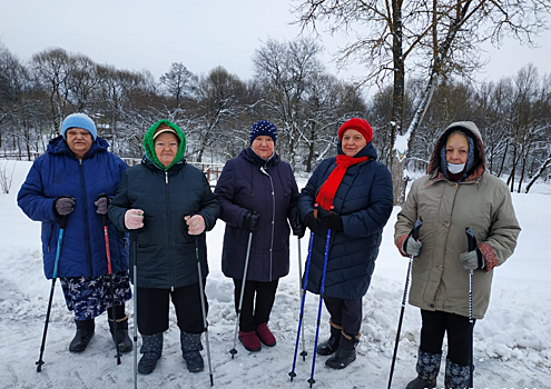
<path fill-rule="evenodd" d="M 494 205 L 491 227 L 488 238 L 479 242 L 479 249 L 486 262 L 486 270 L 500 266 L 512 256 L 516 247 L 516 238 L 521 231 L 514 213 L 511 193 L 505 184 L 500 183 L 499 201 Z"/>

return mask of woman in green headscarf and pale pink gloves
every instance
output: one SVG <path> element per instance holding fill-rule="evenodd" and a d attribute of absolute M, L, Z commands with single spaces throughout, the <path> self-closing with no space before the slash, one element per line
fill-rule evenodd
<path fill-rule="evenodd" d="M 205 283 L 205 232 L 214 228 L 219 205 L 205 174 L 186 163 L 186 136 L 178 126 L 159 120 L 146 132 L 144 148 L 141 163 L 125 172 L 109 207 L 109 217 L 121 231 L 136 231 L 130 238 L 136 239 L 130 245 L 130 266 L 136 258 L 138 276 L 132 282 L 139 299 L 135 315 L 144 355 L 138 371 L 150 373 L 161 356 L 170 299 L 187 369 L 201 371 L 204 326 L 196 243 Z"/>

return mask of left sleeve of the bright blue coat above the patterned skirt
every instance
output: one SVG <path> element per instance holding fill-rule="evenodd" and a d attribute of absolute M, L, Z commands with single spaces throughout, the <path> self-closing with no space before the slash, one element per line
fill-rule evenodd
<path fill-rule="evenodd" d="M 30 219 L 51 223 L 56 221 L 56 213 L 53 212 L 56 199 L 45 196 L 41 162 L 41 160 L 37 160 L 32 163 L 17 196 L 17 203 Z"/>

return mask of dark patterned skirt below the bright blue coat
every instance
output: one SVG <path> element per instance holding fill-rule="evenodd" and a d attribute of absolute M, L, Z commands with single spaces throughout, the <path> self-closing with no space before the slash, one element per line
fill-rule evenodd
<path fill-rule="evenodd" d="M 59 279 L 65 301 L 75 319 L 89 320 L 111 308 L 110 276 L 62 277 Z M 124 306 L 132 297 L 128 271 L 112 273 L 115 306 Z"/>

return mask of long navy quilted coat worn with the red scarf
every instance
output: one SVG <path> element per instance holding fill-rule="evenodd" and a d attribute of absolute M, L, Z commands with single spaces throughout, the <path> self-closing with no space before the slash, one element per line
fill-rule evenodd
<path fill-rule="evenodd" d="M 338 152 L 342 153 L 341 144 Z M 332 231 L 324 296 L 341 299 L 358 299 L 366 292 L 375 269 L 383 227 L 393 207 L 392 177 L 388 169 L 376 161 L 372 143 L 355 156 L 370 159 L 350 167 L 336 191 L 335 212 L 342 216 L 343 232 Z M 314 210 L 317 191 L 336 167 L 336 158 L 322 161 L 301 192 L 301 217 Z M 327 213 L 319 208 L 318 218 Z M 307 289 L 319 293 L 327 230 L 315 231 Z"/>

